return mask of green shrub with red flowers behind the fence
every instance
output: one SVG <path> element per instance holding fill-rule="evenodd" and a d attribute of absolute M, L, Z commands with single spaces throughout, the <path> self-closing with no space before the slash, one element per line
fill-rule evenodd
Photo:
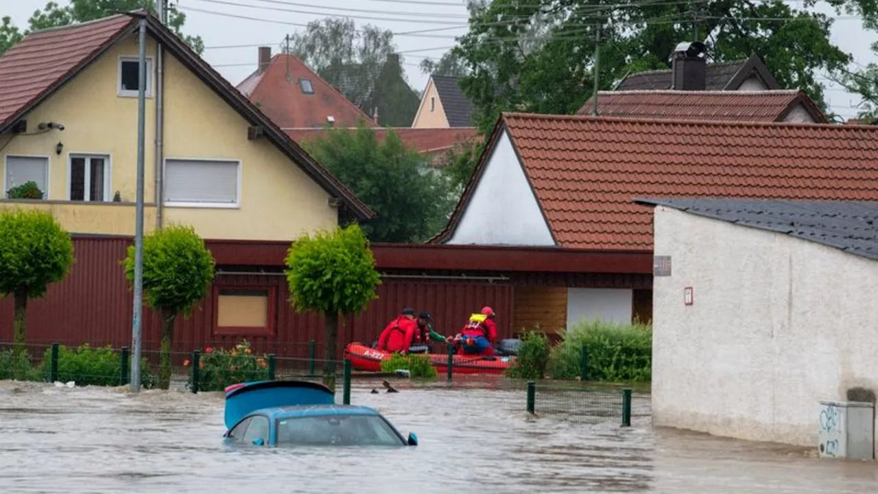
<path fill-rule="evenodd" d="M 191 362 L 183 365 L 190 367 Z M 263 381 L 269 378 L 268 367 L 268 356 L 255 355 L 246 339 L 229 350 L 207 347 L 198 362 L 198 389 L 222 391 L 239 382 Z M 188 386 L 191 389 L 191 373 Z"/>

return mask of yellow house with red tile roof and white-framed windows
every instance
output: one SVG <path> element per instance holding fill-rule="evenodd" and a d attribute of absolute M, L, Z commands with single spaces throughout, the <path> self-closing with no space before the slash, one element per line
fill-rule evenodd
<path fill-rule="evenodd" d="M 133 235 L 139 17 L 147 231 L 179 222 L 208 239 L 288 241 L 374 215 L 143 11 L 32 33 L 0 57 L 0 207 L 50 210 L 72 233 Z M 27 182 L 41 199 L 10 197 Z"/>

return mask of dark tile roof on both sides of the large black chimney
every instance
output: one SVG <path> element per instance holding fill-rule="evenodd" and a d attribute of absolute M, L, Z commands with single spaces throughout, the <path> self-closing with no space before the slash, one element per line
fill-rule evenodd
<path fill-rule="evenodd" d="M 780 89 L 774 76 L 768 72 L 758 54 L 744 60 L 709 63 L 706 68 L 706 91 L 734 91 L 755 71 L 770 90 Z M 614 91 L 643 91 L 671 89 L 671 70 L 647 70 L 624 76 Z"/>

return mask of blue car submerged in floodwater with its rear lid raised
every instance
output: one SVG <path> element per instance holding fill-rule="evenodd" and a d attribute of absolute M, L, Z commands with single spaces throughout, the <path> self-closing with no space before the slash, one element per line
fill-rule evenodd
<path fill-rule="evenodd" d="M 307 381 L 255 381 L 226 389 L 226 442 L 255 446 L 417 446 L 378 410 L 335 404 Z"/>

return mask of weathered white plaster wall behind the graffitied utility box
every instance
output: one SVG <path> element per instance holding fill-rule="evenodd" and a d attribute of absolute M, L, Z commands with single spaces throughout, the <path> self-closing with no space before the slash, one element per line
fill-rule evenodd
<path fill-rule="evenodd" d="M 819 400 L 878 389 L 878 262 L 665 207 L 654 229 L 655 425 L 817 447 Z"/>

